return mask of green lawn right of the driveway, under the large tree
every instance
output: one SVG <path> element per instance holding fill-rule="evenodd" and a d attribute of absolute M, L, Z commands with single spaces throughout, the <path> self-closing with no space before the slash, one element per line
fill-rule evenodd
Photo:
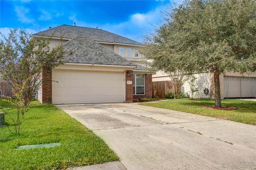
<path fill-rule="evenodd" d="M 202 106 L 214 106 L 214 99 L 170 99 L 168 101 L 158 103 L 140 103 L 140 105 L 182 111 L 186 113 L 193 113 L 209 117 L 217 117 L 221 119 L 227 119 L 230 121 L 256 125 L 255 101 L 222 99 L 221 103 L 222 106 L 236 107 L 237 109 L 218 110 L 202 108 Z"/>

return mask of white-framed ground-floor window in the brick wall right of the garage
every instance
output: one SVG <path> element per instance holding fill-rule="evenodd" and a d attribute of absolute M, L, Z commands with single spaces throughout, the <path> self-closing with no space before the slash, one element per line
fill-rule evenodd
<path fill-rule="evenodd" d="M 145 79 L 144 74 L 133 74 L 133 94 L 144 95 L 145 94 Z"/>

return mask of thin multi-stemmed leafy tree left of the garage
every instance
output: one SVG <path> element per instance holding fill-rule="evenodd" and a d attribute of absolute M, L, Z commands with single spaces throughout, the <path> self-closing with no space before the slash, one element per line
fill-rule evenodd
<path fill-rule="evenodd" d="M 26 107 L 42 83 L 42 74 L 64 63 L 62 43 L 50 47 L 52 37 L 35 37 L 23 29 L 11 29 L 8 38 L 0 35 L 1 77 Z"/>

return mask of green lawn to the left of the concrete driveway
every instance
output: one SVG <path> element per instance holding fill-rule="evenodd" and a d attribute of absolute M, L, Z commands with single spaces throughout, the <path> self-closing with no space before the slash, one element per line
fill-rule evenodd
<path fill-rule="evenodd" d="M 55 142 L 61 146 L 15 150 L 21 145 Z M 116 160 L 118 156 L 101 138 L 53 105 L 33 101 L 18 136 L 11 134 L 7 127 L 0 128 L 1 170 L 55 170 Z"/>

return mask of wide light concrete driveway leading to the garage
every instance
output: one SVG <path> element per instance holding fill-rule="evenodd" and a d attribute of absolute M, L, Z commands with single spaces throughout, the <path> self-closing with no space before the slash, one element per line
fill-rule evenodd
<path fill-rule="evenodd" d="M 127 170 L 256 169 L 253 125 L 132 103 L 56 106 L 100 136 Z"/>

